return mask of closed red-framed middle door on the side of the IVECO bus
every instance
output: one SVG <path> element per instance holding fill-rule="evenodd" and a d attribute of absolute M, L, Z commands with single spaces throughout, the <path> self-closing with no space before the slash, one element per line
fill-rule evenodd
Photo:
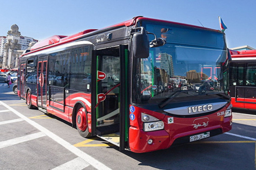
<path fill-rule="evenodd" d="M 38 58 L 37 64 L 37 104 L 46 109 L 47 103 L 47 56 Z"/>

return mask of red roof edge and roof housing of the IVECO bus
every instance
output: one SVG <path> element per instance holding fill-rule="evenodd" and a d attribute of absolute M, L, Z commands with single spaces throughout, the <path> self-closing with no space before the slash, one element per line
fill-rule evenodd
<path fill-rule="evenodd" d="M 184 24 L 184 23 L 179 23 L 179 22 L 172 22 L 172 21 L 165 21 L 165 20 L 158 20 L 158 19 L 152 19 L 152 18 L 145 18 L 145 17 L 134 17 L 128 21 L 124 21 L 118 24 L 115 24 L 113 26 L 109 26 L 103 29 L 99 29 L 98 31 L 102 31 L 105 29 L 110 29 L 110 28 L 115 28 L 115 27 L 129 27 L 129 26 L 134 26 L 139 20 L 149 20 L 149 21 L 157 21 L 157 22 L 166 22 L 166 23 L 172 23 L 172 24 L 177 24 L 177 25 L 182 25 L 182 26 L 187 26 L 187 27 L 193 27 L 193 28 L 200 28 L 200 29 L 205 29 L 205 30 L 210 30 L 210 31 L 216 31 L 216 32 L 220 32 L 222 33 L 220 30 L 214 30 L 214 29 L 210 29 L 210 28 L 205 28 L 205 27 L 199 27 L 199 26 L 194 26 L 194 25 L 190 25 L 190 24 Z M 40 50 L 44 50 L 44 49 L 48 49 L 51 47 L 55 47 L 64 43 L 68 43 L 68 42 L 72 42 L 75 41 L 78 38 L 81 38 L 83 36 L 85 36 L 85 34 L 96 31 L 97 29 L 88 29 L 88 30 L 84 30 L 82 32 L 73 34 L 71 36 L 52 36 L 49 37 L 47 39 L 41 40 L 37 43 L 35 43 L 34 46 L 31 47 L 30 51 L 27 53 L 22 54 L 20 57 L 29 54 L 29 53 L 33 53 L 36 51 L 40 51 Z"/>

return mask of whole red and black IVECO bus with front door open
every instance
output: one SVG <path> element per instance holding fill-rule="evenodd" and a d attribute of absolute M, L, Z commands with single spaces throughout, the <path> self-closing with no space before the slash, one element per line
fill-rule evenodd
<path fill-rule="evenodd" d="M 135 17 L 37 42 L 19 58 L 18 95 L 82 137 L 149 152 L 231 130 L 228 62 L 221 31 Z"/>

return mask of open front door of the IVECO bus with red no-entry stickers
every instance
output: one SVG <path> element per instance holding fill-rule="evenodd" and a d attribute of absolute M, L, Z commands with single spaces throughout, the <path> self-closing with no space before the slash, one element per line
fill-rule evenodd
<path fill-rule="evenodd" d="M 93 51 L 92 134 L 125 148 L 127 143 L 126 46 Z M 95 130 L 93 130 L 95 129 Z"/>

